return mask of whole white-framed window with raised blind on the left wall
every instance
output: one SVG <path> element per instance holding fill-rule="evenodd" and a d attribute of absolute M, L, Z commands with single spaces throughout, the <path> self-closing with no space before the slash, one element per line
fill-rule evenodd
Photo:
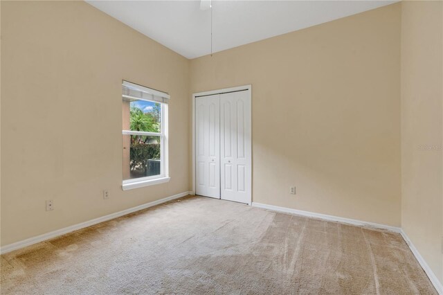
<path fill-rule="evenodd" d="M 168 93 L 123 81 L 123 190 L 169 181 Z"/>

